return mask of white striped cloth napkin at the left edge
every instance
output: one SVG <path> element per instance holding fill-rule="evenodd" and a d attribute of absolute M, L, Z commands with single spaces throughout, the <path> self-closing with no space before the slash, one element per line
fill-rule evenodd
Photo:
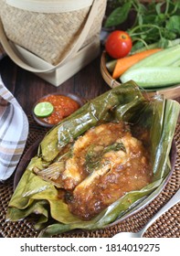
<path fill-rule="evenodd" d="M 0 77 L 0 181 L 16 169 L 28 134 L 25 112 Z"/>

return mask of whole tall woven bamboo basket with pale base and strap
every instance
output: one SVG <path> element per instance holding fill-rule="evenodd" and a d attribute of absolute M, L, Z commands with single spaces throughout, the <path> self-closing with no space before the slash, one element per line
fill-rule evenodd
<path fill-rule="evenodd" d="M 100 53 L 106 2 L 0 0 L 1 43 L 18 66 L 58 86 Z"/>

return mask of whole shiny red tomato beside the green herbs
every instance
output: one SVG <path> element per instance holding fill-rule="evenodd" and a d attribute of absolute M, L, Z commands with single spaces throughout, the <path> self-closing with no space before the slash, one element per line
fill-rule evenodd
<path fill-rule="evenodd" d="M 123 58 L 132 49 L 132 38 L 124 31 L 115 30 L 107 37 L 105 49 L 112 58 Z"/>

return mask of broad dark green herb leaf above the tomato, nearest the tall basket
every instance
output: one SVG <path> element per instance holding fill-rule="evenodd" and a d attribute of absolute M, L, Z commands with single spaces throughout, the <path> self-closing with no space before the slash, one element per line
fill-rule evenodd
<path fill-rule="evenodd" d="M 114 9 L 106 20 L 105 27 L 113 27 L 122 24 L 122 22 L 127 19 L 131 7 L 132 3 L 127 2 L 124 5 Z"/>

